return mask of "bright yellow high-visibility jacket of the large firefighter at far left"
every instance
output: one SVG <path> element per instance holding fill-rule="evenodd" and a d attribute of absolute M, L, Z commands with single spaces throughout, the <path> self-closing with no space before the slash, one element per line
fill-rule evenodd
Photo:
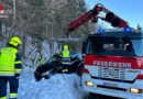
<path fill-rule="evenodd" d="M 15 74 L 20 74 L 21 63 L 21 55 L 16 48 L 2 48 L 0 54 L 0 76 L 15 76 Z"/>

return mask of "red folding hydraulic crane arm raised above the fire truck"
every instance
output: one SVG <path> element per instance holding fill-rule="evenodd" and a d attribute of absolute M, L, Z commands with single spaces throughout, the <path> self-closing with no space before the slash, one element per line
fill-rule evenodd
<path fill-rule="evenodd" d="M 107 15 L 106 18 L 98 16 L 98 14 L 103 11 Z M 114 28 L 128 28 L 128 22 L 125 22 L 123 19 L 119 18 L 108 9 L 106 9 L 102 4 L 98 3 L 92 10 L 89 10 L 85 14 L 82 14 L 80 18 L 77 18 L 75 21 L 68 24 L 68 34 L 81 26 L 82 24 L 87 23 L 89 20 L 92 22 L 97 22 L 98 19 L 101 19 L 103 21 L 107 21 L 111 23 Z"/>

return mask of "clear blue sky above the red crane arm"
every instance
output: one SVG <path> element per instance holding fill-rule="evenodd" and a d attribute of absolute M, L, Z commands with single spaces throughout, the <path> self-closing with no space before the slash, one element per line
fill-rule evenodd
<path fill-rule="evenodd" d="M 138 23 L 143 28 L 143 0 L 85 0 L 88 9 L 97 3 L 102 3 L 107 9 L 136 28 Z"/>

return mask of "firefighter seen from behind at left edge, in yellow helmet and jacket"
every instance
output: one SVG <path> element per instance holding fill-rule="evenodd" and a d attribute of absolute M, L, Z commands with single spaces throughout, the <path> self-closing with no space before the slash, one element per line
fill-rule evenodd
<path fill-rule="evenodd" d="M 22 70 L 21 54 L 18 47 L 21 40 L 18 36 L 10 38 L 7 47 L 0 52 L 0 99 L 7 99 L 7 84 L 10 85 L 9 99 L 16 99 L 19 77 Z"/>

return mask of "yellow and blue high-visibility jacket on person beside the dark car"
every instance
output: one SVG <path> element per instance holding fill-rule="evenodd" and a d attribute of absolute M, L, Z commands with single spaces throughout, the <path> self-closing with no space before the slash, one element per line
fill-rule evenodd
<path fill-rule="evenodd" d="M 62 52 L 62 64 L 69 64 L 70 63 L 70 53 L 69 51 Z"/>

